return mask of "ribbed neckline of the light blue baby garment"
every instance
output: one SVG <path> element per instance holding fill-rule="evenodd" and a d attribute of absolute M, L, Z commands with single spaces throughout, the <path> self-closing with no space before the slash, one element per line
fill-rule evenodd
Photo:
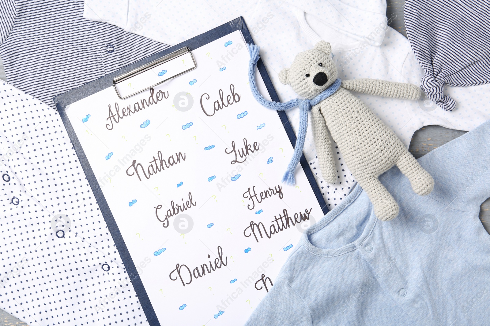
<path fill-rule="evenodd" d="M 316 224 L 306 229 L 306 231 L 303 233 L 303 236 L 301 237 L 301 242 L 309 253 L 321 257 L 335 257 L 335 256 L 343 255 L 349 251 L 355 250 L 363 244 L 364 240 L 371 234 L 374 225 L 376 225 L 377 218 L 376 215 L 374 215 L 372 208 L 369 215 L 368 223 L 366 224 L 363 233 L 358 239 L 352 241 L 351 243 L 345 244 L 339 248 L 322 249 L 313 245 L 313 243 L 310 242 L 310 239 L 308 239 L 309 235 L 321 230 L 328 223 L 330 223 L 335 217 L 339 216 L 344 209 L 346 209 L 354 200 L 356 200 L 356 198 L 361 194 L 361 192 L 362 192 L 361 186 L 359 186 L 359 184 L 356 184 L 354 189 L 351 191 L 351 193 L 344 198 L 344 200 L 341 202 L 339 206 L 337 206 L 336 208 L 328 212 L 327 215 L 322 217 Z"/>

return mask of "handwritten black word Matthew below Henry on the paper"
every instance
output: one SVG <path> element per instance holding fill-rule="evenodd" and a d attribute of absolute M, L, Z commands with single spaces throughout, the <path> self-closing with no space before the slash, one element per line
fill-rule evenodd
<path fill-rule="evenodd" d="M 264 231 L 266 237 L 270 239 L 270 237 L 272 237 L 272 235 L 277 234 L 283 230 L 286 230 L 286 229 L 290 228 L 292 225 L 296 225 L 296 223 L 301 223 L 301 221 L 306 221 L 307 219 L 310 219 L 311 210 L 312 210 L 312 208 L 310 208 L 310 210 L 305 209 L 304 214 L 302 212 L 294 213 L 294 219 L 293 219 L 292 217 L 288 216 L 288 211 L 286 209 L 284 209 L 282 211 L 283 215 L 279 214 L 279 217 L 276 217 L 274 215 L 275 219 L 273 221 L 271 221 L 272 224 L 270 224 L 269 232 L 267 231 L 266 227 L 264 226 L 264 223 L 259 222 L 257 224 L 254 221 L 250 221 L 250 225 L 247 226 L 244 230 L 244 236 L 246 238 L 248 238 L 253 234 L 253 236 L 255 237 L 255 240 L 257 242 L 259 242 L 259 239 L 257 238 L 257 234 L 255 232 L 258 231 L 260 239 L 263 239 L 264 236 L 262 235 L 262 231 Z M 279 224 L 279 221 L 281 222 L 280 224 Z M 275 222 L 275 224 L 274 224 L 274 222 Z M 262 227 L 262 231 L 260 229 L 261 227 Z M 248 235 L 247 235 L 247 231 L 248 231 Z"/>

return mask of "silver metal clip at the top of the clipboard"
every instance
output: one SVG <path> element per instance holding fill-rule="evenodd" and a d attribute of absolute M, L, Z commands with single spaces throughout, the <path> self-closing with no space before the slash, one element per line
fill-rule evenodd
<path fill-rule="evenodd" d="M 124 100 L 189 72 L 196 66 L 191 50 L 186 46 L 115 77 L 112 85 L 118 97 Z M 139 90 L 135 91 L 135 86 Z"/>

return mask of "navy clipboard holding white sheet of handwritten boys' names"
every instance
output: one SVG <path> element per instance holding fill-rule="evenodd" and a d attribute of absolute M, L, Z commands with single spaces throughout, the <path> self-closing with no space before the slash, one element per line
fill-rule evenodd
<path fill-rule="evenodd" d="M 302 169 L 296 169 L 296 186 L 280 183 L 296 137 L 284 111 L 268 111 L 250 100 L 248 77 L 238 73 L 248 67 L 245 43 L 253 40 L 239 17 L 54 98 L 150 326 L 177 320 L 182 325 L 244 323 L 269 291 L 302 231 L 328 212 L 304 155 Z M 203 52 L 206 46 L 217 53 Z M 170 68 L 177 64 L 179 69 Z M 206 69 L 208 78 L 202 75 Z M 257 69 L 259 90 L 279 102 L 262 60 Z M 195 78 L 197 73 L 202 82 Z M 244 82 L 224 83 L 234 78 Z M 262 118 L 268 123 L 259 123 Z M 219 119 L 229 124 L 221 125 Z M 253 130 L 260 136 L 257 141 L 245 139 L 236 130 L 254 134 Z M 243 143 L 238 142 L 241 138 Z M 176 143 L 183 149 L 176 149 Z M 237 155 L 240 151 L 244 156 Z M 245 165 L 244 157 L 256 158 Z M 109 162 L 119 170 L 104 170 L 110 169 Z M 210 162 L 219 168 L 208 175 Z M 228 173 L 237 165 L 243 171 Z M 263 172 L 258 173 L 259 167 Z M 125 191 L 130 195 L 125 197 Z M 163 192 L 167 196 L 161 196 Z M 309 215 L 308 209 L 315 214 Z M 283 220 L 290 222 L 281 229 Z M 156 239 L 169 242 L 160 247 L 147 244 Z M 148 257 L 143 259 L 145 253 Z M 103 265 L 101 273 L 110 262 Z"/>

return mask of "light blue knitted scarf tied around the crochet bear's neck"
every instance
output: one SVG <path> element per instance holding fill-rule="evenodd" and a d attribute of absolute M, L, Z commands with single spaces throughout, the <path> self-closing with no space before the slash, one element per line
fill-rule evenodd
<path fill-rule="evenodd" d="M 296 146 L 294 146 L 294 154 L 293 158 L 291 158 L 291 162 L 288 165 L 288 170 L 284 174 L 282 178 L 282 182 L 286 181 L 287 184 L 294 184 L 294 170 L 296 170 L 296 165 L 298 165 L 299 159 L 303 154 L 303 146 L 306 138 L 306 129 L 308 128 L 308 111 L 321 101 L 332 95 L 339 89 L 341 80 L 337 79 L 332 85 L 330 85 L 327 89 L 322 91 L 319 95 L 317 95 L 312 100 L 300 100 L 293 99 L 288 102 L 271 102 L 266 100 L 262 95 L 260 95 L 259 90 L 257 89 L 257 85 L 255 84 L 255 65 L 259 60 L 259 46 L 255 44 L 246 44 L 248 48 L 248 52 L 250 54 L 250 63 L 248 66 L 248 79 L 250 83 L 250 89 L 252 90 L 252 94 L 264 107 L 268 109 L 273 109 L 276 111 L 284 111 L 287 109 L 291 109 L 294 107 L 299 107 L 299 129 L 298 136 L 296 140 Z"/>

